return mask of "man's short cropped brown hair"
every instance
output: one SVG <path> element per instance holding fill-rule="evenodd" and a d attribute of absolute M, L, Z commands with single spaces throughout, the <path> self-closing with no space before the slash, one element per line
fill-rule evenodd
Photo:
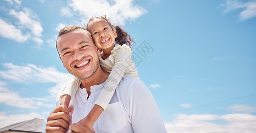
<path fill-rule="evenodd" d="M 58 38 L 59 36 L 63 35 L 63 34 L 66 34 L 68 32 L 71 32 L 71 31 L 77 31 L 77 30 L 82 30 L 82 31 L 85 31 L 87 33 L 87 35 L 89 35 L 91 37 L 91 40 L 93 42 L 93 44 L 95 45 L 95 42 L 91 36 L 91 33 L 89 31 L 87 31 L 85 28 L 83 27 L 80 27 L 80 26 L 75 26 L 75 25 L 68 25 L 68 26 L 65 26 L 64 28 L 62 28 L 59 32 L 59 35 L 57 37 L 57 40 L 56 40 L 56 49 L 58 51 L 58 48 L 57 48 L 57 41 L 58 41 Z M 58 51 L 58 54 L 59 54 L 59 51 Z M 59 54 L 60 55 L 60 54 Z"/>

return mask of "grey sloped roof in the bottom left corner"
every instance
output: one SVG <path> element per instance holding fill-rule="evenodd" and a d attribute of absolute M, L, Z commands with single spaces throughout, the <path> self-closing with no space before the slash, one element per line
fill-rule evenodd
<path fill-rule="evenodd" d="M 43 122 L 43 119 L 34 118 L 32 120 L 23 121 L 20 123 L 6 126 L 0 129 L 0 133 L 6 133 L 7 131 L 42 133 Z"/>

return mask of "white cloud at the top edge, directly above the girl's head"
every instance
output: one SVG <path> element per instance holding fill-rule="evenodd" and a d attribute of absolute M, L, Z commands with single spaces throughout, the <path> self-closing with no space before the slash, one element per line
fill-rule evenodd
<path fill-rule="evenodd" d="M 84 18 L 83 23 L 91 17 L 106 15 L 115 24 L 124 25 L 125 22 L 134 21 L 145 14 L 146 10 L 134 0 L 71 0 L 69 7 L 62 9 L 61 12 L 63 16 L 71 16 L 71 12 L 78 12 L 80 18 Z"/>

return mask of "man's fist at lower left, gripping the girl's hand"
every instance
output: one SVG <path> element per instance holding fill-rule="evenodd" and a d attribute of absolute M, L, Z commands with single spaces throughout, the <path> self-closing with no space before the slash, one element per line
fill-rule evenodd
<path fill-rule="evenodd" d="M 71 125 L 74 106 L 60 105 L 55 108 L 47 118 L 46 133 L 66 133 Z"/>

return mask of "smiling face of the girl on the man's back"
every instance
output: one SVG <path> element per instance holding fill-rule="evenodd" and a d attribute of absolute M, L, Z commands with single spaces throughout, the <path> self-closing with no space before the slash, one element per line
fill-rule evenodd
<path fill-rule="evenodd" d="M 116 30 L 113 30 L 106 20 L 97 19 L 88 23 L 88 31 L 91 33 L 92 38 L 95 41 L 95 45 L 101 50 L 106 50 L 113 47 Z"/>

